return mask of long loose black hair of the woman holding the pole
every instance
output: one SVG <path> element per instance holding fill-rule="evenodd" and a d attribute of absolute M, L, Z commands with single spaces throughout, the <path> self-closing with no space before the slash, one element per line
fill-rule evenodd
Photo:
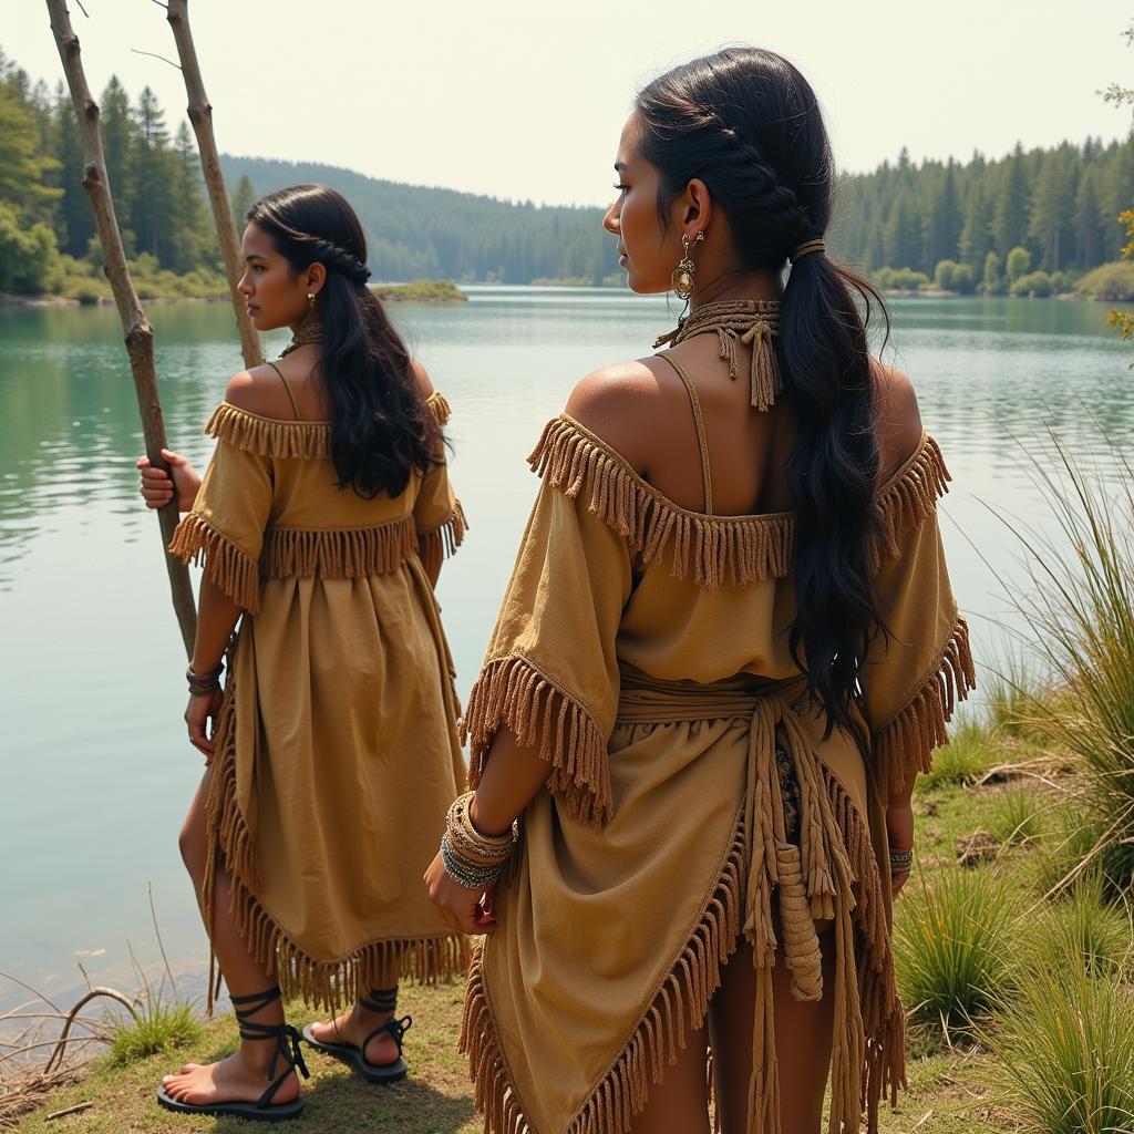
<path fill-rule="evenodd" d="M 339 488 L 373 499 L 399 496 L 414 468 L 433 464 L 437 426 L 409 353 L 366 287 L 366 238 L 355 211 L 325 185 L 293 185 L 261 197 L 245 218 L 301 272 L 327 269 L 319 380 L 331 403 L 331 459 Z"/>

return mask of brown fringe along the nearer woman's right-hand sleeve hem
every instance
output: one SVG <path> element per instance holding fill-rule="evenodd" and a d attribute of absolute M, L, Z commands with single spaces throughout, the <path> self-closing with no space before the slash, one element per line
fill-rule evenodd
<path fill-rule="evenodd" d="M 917 693 L 873 734 L 878 781 L 886 798 L 904 794 L 933 767 L 933 750 L 949 743 L 946 725 L 958 701 L 976 688 L 968 624 L 959 615 Z"/>

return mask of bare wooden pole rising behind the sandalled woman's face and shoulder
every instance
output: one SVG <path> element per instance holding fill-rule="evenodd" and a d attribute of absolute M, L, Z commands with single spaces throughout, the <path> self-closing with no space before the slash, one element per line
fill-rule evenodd
<path fill-rule="evenodd" d="M 161 3 L 161 0 L 156 2 Z M 188 0 L 169 0 L 162 7 L 166 8 L 166 18 L 174 29 L 177 57 L 181 61 L 185 93 L 189 96 L 187 112 L 193 124 L 193 133 L 197 136 L 201 170 L 209 189 L 209 203 L 212 205 L 221 255 L 225 257 L 225 273 L 232 296 L 232 307 L 236 311 L 236 325 L 240 332 L 240 353 L 244 355 L 244 365 L 251 370 L 253 366 L 262 365 L 264 355 L 260 347 L 260 336 L 252 325 L 248 308 L 244 305 L 244 296 L 236 289 L 237 280 L 244 274 L 244 266 L 236 236 L 236 223 L 232 220 L 232 206 L 225 188 L 225 175 L 220 168 L 220 154 L 217 152 L 217 138 L 212 129 L 212 105 L 205 94 L 197 52 L 193 46 L 193 33 L 189 31 L 189 3 Z"/>

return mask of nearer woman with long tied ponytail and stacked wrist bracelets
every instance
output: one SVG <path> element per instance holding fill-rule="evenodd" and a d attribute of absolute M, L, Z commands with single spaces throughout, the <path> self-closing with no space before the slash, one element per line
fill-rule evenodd
<path fill-rule="evenodd" d="M 629 287 L 688 307 L 530 458 L 475 792 L 426 872 L 486 933 L 477 1103 L 491 1134 L 706 1134 L 710 1095 L 725 1134 L 814 1134 L 829 1078 L 831 1134 L 873 1132 L 904 1083 L 911 792 L 973 684 L 948 473 L 870 355 L 877 295 L 826 253 L 833 163 L 790 64 L 654 79 L 615 168 Z"/>

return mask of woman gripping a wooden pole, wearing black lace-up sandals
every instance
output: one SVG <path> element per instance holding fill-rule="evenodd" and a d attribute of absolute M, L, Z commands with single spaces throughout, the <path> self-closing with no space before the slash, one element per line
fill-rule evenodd
<path fill-rule="evenodd" d="M 448 407 L 366 287 L 354 211 L 298 185 L 247 220 L 240 291 L 291 344 L 228 383 L 203 482 L 176 454 L 172 482 L 141 463 L 149 503 L 189 509 L 171 551 L 204 562 L 185 720 L 208 767 L 181 850 L 242 1036 L 158 1099 L 277 1122 L 306 1073 L 281 990 L 346 1006 L 305 1038 L 387 1083 L 406 1073 L 399 978 L 467 962 L 418 882 L 465 776 L 433 598 L 465 525 Z"/>

